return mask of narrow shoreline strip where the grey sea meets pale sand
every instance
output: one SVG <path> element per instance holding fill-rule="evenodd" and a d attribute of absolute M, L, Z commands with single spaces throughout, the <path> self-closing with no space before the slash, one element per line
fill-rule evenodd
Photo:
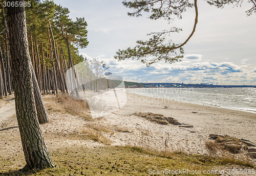
<path fill-rule="evenodd" d="M 153 87 L 155 89 L 159 89 L 159 88 L 156 88 L 156 87 Z M 165 87 L 166 88 L 166 87 Z M 130 90 L 133 90 L 133 89 L 147 89 L 147 88 L 125 88 L 125 89 L 130 89 Z M 182 88 L 181 88 L 182 89 Z M 134 92 L 130 92 L 130 91 L 127 91 L 129 93 L 134 93 Z M 134 93 L 134 94 L 137 94 L 137 95 L 141 95 L 141 96 L 148 96 L 148 97 L 152 97 L 152 98 L 159 98 L 159 99 L 168 99 L 170 101 L 174 101 L 174 102 L 180 102 L 180 103 L 188 103 L 188 104 L 195 104 L 195 105 L 201 105 L 201 106 L 208 106 L 208 107 L 214 107 L 214 108 L 222 108 L 222 109 L 228 109 L 228 110 L 234 110 L 234 111 L 242 111 L 242 112 L 248 112 L 248 113 L 252 113 L 252 114 L 255 114 L 256 115 L 256 111 L 249 111 L 249 110 L 242 110 L 242 109 L 236 109 L 236 108 L 229 108 L 229 107 L 221 107 L 221 106 L 211 106 L 211 105 L 204 105 L 204 104 L 200 104 L 200 103 L 194 103 L 194 102 L 187 102 L 187 101 L 182 101 L 182 100 L 175 100 L 175 99 L 170 99 L 170 98 L 162 98 L 162 97 L 157 97 L 157 96 L 151 96 L 151 95 L 142 95 L 142 94 L 138 94 L 138 93 Z"/>

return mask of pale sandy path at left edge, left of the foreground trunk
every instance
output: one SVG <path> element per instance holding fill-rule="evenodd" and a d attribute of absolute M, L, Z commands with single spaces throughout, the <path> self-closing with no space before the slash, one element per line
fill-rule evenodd
<path fill-rule="evenodd" d="M 8 101 L 8 104 L 0 108 L 0 124 L 15 115 L 16 113 L 14 95 L 9 95 L 5 98 L 5 100 Z"/>

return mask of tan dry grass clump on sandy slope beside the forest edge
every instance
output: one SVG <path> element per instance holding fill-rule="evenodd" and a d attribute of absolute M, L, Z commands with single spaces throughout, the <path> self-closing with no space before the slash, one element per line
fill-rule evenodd
<path fill-rule="evenodd" d="M 86 100 L 73 99 L 67 94 L 47 95 L 43 99 L 48 111 L 69 113 L 88 120 L 92 118 Z"/>

